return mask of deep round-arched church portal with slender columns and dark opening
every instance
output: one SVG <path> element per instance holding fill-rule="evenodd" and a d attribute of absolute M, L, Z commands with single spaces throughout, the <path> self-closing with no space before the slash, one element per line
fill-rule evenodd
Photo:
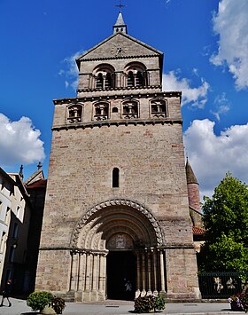
<path fill-rule="evenodd" d="M 74 229 L 72 244 L 69 286 L 77 300 L 133 300 L 165 292 L 162 233 L 141 204 L 112 200 L 90 209 Z"/>

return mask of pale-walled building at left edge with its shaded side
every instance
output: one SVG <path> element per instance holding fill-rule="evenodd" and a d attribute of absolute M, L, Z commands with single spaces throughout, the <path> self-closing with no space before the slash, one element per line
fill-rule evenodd
<path fill-rule="evenodd" d="M 0 168 L 0 280 L 12 279 L 13 292 L 27 287 L 27 237 L 31 205 L 19 173 Z"/>

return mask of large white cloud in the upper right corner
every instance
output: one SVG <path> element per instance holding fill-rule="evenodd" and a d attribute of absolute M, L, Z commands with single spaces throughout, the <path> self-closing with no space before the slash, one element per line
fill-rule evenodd
<path fill-rule="evenodd" d="M 220 36 L 218 52 L 210 61 L 227 66 L 236 89 L 248 88 L 248 1 L 221 0 L 213 17 L 213 30 Z"/>

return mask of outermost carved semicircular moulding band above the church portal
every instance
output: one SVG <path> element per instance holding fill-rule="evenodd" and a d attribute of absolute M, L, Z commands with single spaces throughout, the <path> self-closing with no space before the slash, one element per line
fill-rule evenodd
<path fill-rule="evenodd" d="M 163 245 L 163 243 L 164 243 L 164 241 L 163 241 L 163 233 L 162 233 L 161 228 L 159 226 L 158 220 L 152 215 L 151 210 L 149 210 L 146 207 L 144 207 L 138 201 L 130 201 L 128 199 L 111 199 L 111 200 L 108 200 L 108 201 L 104 201 L 104 202 L 98 203 L 97 205 L 95 205 L 94 207 L 89 209 L 81 217 L 81 219 L 78 221 L 78 223 L 76 224 L 76 226 L 74 228 L 74 232 L 73 232 L 72 239 L 71 239 L 71 247 L 72 248 L 76 248 L 77 247 L 77 242 L 78 242 L 78 239 L 79 239 L 79 235 L 80 235 L 81 229 L 82 229 L 83 225 L 87 223 L 89 218 L 91 216 L 93 216 L 98 210 L 105 209 L 105 208 L 112 207 L 112 206 L 127 206 L 127 207 L 130 207 L 130 208 L 136 209 L 137 211 L 142 213 L 150 221 L 151 225 L 154 228 L 154 232 L 156 233 L 158 246 L 162 246 Z"/>

